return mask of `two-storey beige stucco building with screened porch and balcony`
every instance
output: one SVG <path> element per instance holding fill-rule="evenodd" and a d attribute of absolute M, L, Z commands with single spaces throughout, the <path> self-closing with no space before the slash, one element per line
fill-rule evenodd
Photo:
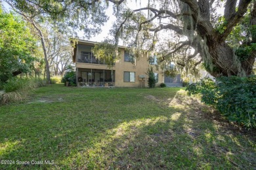
<path fill-rule="evenodd" d="M 164 82 L 163 71 L 156 70 L 156 61 L 148 53 L 141 54 L 132 63 L 127 47 L 119 46 L 119 60 L 110 68 L 91 52 L 96 43 L 78 40 L 74 47 L 73 62 L 78 86 L 147 87 L 146 72 L 151 65 L 154 67 L 157 85 Z"/>

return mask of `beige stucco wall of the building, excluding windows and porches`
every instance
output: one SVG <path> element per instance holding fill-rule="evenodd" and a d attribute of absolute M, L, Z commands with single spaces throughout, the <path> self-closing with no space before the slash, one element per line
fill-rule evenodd
<path fill-rule="evenodd" d="M 86 45 L 91 45 L 93 44 L 87 44 L 83 43 Z M 81 55 L 81 51 L 85 52 L 91 52 L 91 48 L 89 47 L 82 47 L 81 45 L 79 46 L 77 50 L 77 54 Z M 117 87 L 140 87 L 140 80 L 139 80 L 139 75 L 146 75 L 148 67 L 150 67 L 150 64 L 148 62 L 148 54 L 145 52 L 141 54 L 140 58 L 137 59 L 135 63 L 127 62 L 124 61 L 124 48 L 120 48 L 120 59 L 119 61 L 116 62 L 116 65 L 113 67 L 115 70 L 115 86 Z M 107 67 L 107 65 L 96 65 L 96 64 L 89 64 L 89 63 L 75 63 L 76 68 L 88 68 L 88 69 L 110 69 Z M 152 65 L 154 66 L 154 65 Z M 155 73 L 158 73 L 158 83 L 157 86 L 161 83 L 164 82 L 164 76 L 163 76 L 163 71 L 156 71 L 156 67 L 154 67 Z M 124 71 L 130 71 L 130 72 L 135 72 L 135 82 L 124 82 L 123 81 L 123 75 Z M 145 87 L 148 86 L 147 82 L 148 75 L 146 75 L 146 81 Z"/>

